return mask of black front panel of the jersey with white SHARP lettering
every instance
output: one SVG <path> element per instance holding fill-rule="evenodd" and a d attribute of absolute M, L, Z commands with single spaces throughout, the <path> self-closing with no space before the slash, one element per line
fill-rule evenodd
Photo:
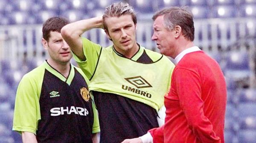
<path fill-rule="evenodd" d="M 92 143 L 92 101 L 85 101 L 80 89 L 88 89 L 75 69 L 70 85 L 45 71 L 40 96 L 41 120 L 38 143 Z"/>

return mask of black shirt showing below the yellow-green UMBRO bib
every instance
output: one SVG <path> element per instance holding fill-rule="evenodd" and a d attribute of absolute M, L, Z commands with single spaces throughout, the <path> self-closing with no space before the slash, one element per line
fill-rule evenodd
<path fill-rule="evenodd" d="M 112 93 L 93 91 L 99 112 L 100 143 L 121 143 L 158 127 L 157 112 L 141 102 Z"/>

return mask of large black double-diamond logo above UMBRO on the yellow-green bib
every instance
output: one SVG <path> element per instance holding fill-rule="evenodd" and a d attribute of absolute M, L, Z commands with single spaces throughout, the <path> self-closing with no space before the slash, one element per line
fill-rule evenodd
<path fill-rule="evenodd" d="M 152 87 L 148 81 L 143 79 L 141 76 L 135 76 L 131 78 L 125 78 L 126 81 L 128 81 L 130 84 L 134 85 L 137 88 L 146 88 L 146 87 Z"/>

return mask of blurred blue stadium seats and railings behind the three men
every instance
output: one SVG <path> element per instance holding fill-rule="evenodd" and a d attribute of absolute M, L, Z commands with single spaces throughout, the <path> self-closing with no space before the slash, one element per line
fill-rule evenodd
<path fill-rule="evenodd" d="M 15 92 L 21 77 L 47 54 L 41 25 L 59 15 L 70 21 L 101 16 L 118 0 L 0 0 L 0 143 L 21 143 L 12 131 Z M 155 11 L 188 6 L 195 18 L 195 44 L 221 66 L 227 82 L 226 143 L 256 143 L 256 0 L 122 0 L 137 12 L 137 40 L 158 51 L 151 41 Z M 107 46 L 104 31 L 83 36 Z M 74 63 L 74 62 L 73 62 Z"/>

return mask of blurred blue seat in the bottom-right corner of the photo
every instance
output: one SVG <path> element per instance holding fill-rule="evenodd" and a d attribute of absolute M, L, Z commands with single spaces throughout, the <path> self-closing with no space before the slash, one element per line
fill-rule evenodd
<path fill-rule="evenodd" d="M 239 143 L 255 143 L 256 130 L 240 130 L 238 136 Z"/>

